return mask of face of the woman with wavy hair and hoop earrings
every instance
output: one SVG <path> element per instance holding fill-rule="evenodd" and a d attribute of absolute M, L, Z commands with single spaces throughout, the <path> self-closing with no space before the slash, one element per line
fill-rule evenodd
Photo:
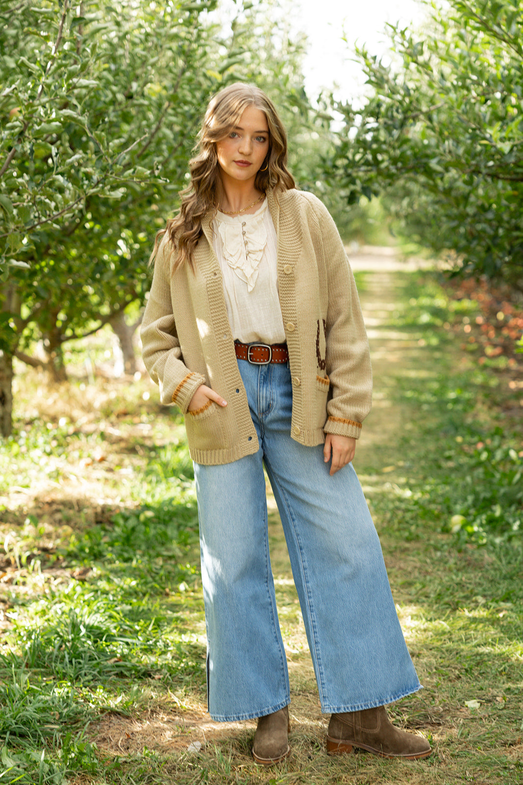
<path fill-rule="evenodd" d="M 256 107 L 245 109 L 236 126 L 216 142 L 216 154 L 223 181 L 254 181 L 269 151 L 269 126 L 265 112 Z"/>

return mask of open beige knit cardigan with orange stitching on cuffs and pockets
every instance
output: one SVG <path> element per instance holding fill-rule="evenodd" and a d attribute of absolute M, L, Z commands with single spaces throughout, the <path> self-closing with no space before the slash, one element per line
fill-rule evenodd
<path fill-rule="evenodd" d="M 369 414 L 369 343 L 347 254 L 332 217 L 314 195 L 267 192 L 278 235 L 278 290 L 292 376 L 292 439 L 322 444 L 325 433 L 358 438 Z M 238 370 L 222 275 L 212 250 L 212 216 L 194 250 L 193 272 L 173 274 L 173 247 L 164 235 L 143 316 L 143 362 L 160 386 L 162 403 L 185 414 L 191 458 L 230 463 L 260 445 Z M 202 384 L 227 407 L 209 403 L 188 412 Z"/>

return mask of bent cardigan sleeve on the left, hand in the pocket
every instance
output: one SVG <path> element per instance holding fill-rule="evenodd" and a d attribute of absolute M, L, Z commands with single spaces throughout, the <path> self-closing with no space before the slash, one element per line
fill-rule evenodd
<path fill-rule="evenodd" d="M 205 378 L 183 363 L 171 299 L 170 265 L 167 243 L 162 241 L 154 263 L 151 292 L 140 329 L 143 363 L 153 382 L 160 387 L 165 405 L 176 403 L 183 414 L 194 392 Z"/>

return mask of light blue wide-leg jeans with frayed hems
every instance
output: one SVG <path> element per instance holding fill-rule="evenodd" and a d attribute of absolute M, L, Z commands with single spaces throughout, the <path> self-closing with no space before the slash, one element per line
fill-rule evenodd
<path fill-rule="evenodd" d="M 267 535 L 271 481 L 300 598 L 321 710 L 358 711 L 419 689 L 380 541 L 354 469 L 329 476 L 323 447 L 290 437 L 287 364 L 238 360 L 260 450 L 194 465 L 207 628 L 209 712 L 263 717 L 290 703 Z"/>

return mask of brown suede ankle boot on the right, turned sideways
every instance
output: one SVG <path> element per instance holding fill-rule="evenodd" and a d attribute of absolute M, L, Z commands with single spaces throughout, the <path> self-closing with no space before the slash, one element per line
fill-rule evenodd
<path fill-rule="evenodd" d="M 384 706 L 332 714 L 327 731 L 327 752 L 336 755 L 361 747 L 380 758 L 427 758 L 432 752 L 423 736 L 400 731 L 390 724 Z"/>

